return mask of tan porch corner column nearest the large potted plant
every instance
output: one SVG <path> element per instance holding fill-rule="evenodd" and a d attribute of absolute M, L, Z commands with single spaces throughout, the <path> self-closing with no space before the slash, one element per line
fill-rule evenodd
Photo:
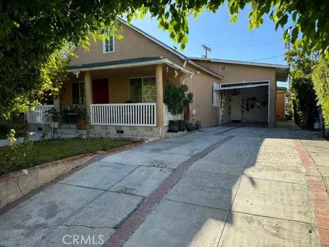
<path fill-rule="evenodd" d="M 163 82 L 162 82 L 162 64 L 155 65 L 156 81 L 156 125 L 163 127 Z"/>

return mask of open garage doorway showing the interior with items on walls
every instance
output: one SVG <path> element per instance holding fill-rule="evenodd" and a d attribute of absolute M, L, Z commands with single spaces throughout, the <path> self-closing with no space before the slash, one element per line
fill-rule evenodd
<path fill-rule="evenodd" d="M 269 122 L 268 82 L 221 84 L 220 123 Z"/>

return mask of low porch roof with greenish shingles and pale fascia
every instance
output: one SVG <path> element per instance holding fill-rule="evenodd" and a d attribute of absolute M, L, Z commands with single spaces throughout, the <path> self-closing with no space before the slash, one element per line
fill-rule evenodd
<path fill-rule="evenodd" d="M 167 64 L 180 72 L 191 75 L 193 72 L 190 70 L 170 61 L 165 57 L 149 57 L 149 58 L 132 58 L 132 59 L 123 59 L 115 61 L 107 61 L 100 63 L 88 63 L 81 65 L 72 65 L 67 66 L 67 72 L 81 72 L 81 71 L 90 71 L 90 70 L 100 70 L 100 69 L 111 69 L 111 68 L 126 68 L 126 67 L 136 67 L 143 65 L 155 65 L 155 64 Z"/>

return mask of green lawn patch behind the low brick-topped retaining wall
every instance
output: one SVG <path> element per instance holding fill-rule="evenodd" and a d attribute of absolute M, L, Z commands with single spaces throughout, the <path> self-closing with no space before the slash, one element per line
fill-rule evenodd
<path fill-rule="evenodd" d="M 0 147 L 0 175 L 40 165 L 46 162 L 58 161 L 84 153 L 107 151 L 113 148 L 139 142 L 123 138 L 57 138 L 33 142 L 30 152 L 26 155 L 21 150 L 10 160 L 6 158 L 8 146 Z M 26 149 L 24 149 L 26 150 Z"/>

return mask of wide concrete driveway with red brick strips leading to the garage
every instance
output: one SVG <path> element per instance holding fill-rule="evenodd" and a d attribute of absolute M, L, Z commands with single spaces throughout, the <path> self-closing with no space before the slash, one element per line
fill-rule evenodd
<path fill-rule="evenodd" d="M 0 246 L 329 244 L 316 137 L 214 127 L 103 156 L 3 210 Z"/>

